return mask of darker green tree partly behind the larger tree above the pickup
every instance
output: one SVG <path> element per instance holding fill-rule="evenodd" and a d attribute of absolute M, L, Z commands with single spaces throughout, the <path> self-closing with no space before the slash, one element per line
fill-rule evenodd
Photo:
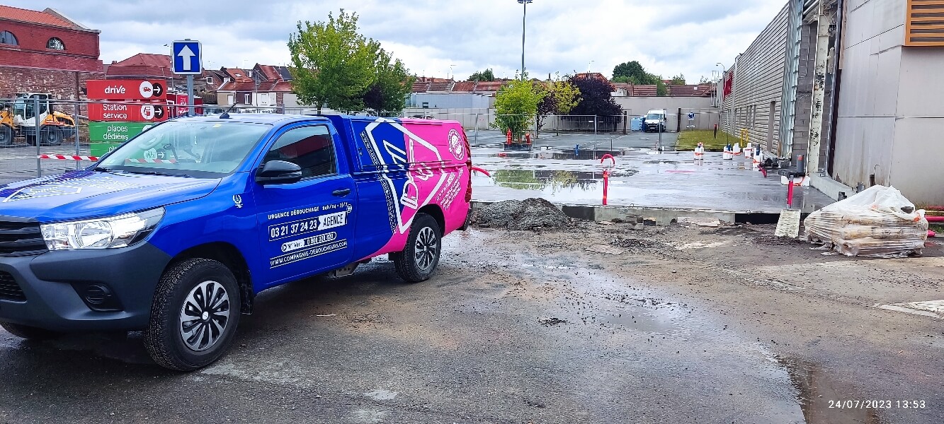
<path fill-rule="evenodd" d="M 414 80 L 400 59 L 379 48 L 374 56 L 374 80 L 363 95 L 363 105 L 377 115 L 399 112 L 406 106 Z"/>

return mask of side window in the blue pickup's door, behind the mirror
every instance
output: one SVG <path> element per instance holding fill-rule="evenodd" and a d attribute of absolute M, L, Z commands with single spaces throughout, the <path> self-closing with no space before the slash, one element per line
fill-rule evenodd
<path fill-rule="evenodd" d="M 331 134 L 325 125 L 288 130 L 265 154 L 264 162 L 270 160 L 284 160 L 298 165 L 303 178 L 337 172 Z"/>

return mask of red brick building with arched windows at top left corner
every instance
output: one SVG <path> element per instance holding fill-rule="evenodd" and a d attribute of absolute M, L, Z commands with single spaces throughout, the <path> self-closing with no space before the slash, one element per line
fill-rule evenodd
<path fill-rule="evenodd" d="M 31 91 L 81 99 L 85 81 L 104 76 L 99 32 L 52 8 L 0 5 L 0 98 Z"/>

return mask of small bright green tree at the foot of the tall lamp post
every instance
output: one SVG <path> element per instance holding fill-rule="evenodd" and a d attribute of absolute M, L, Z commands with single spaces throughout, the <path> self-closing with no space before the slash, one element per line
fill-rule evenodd
<path fill-rule="evenodd" d="M 521 142 L 525 131 L 537 115 L 537 106 L 545 97 L 543 86 L 531 81 L 514 79 L 501 86 L 495 96 L 495 122 L 492 127 L 502 132 L 512 130 L 512 136 Z"/>

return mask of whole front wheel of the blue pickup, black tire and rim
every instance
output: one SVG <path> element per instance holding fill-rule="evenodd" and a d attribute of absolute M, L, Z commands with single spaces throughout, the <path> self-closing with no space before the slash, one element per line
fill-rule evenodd
<path fill-rule="evenodd" d="M 154 290 L 144 346 L 161 367 L 178 371 L 206 367 L 228 350 L 239 324 L 240 304 L 239 285 L 226 266 L 203 258 L 179 262 L 164 272 Z M 186 321 L 189 326 L 184 317 L 192 318 Z M 192 330 L 187 341 L 185 327 Z"/>

